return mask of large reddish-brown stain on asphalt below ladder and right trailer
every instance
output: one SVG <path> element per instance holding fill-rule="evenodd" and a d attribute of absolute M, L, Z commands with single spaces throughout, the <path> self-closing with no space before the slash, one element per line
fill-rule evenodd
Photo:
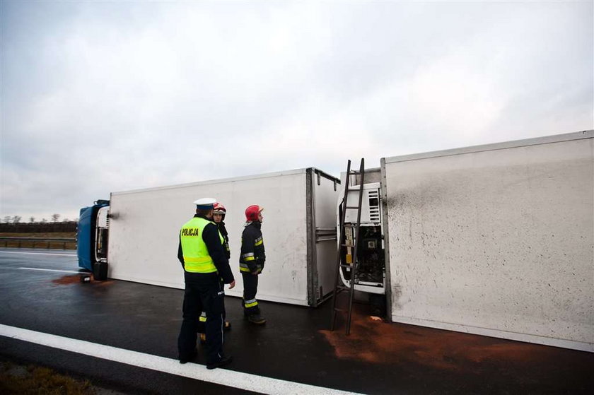
<path fill-rule="evenodd" d="M 378 364 L 420 364 L 438 370 L 462 372 L 485 365 L 531 368 L 571 364 L 594 366 L 594 355 L 532 343 L 465 334 L 455 331 L 393 324 L 377 320 L 356 306 L 351 334 L 344 334 L 346 319 L 337 319 L 334 331 L 322 330 L 337 358 Z M 554 361 L 554 364 L 552 362 Z M 545 369 L 546 370 L 546 369 Z"/>

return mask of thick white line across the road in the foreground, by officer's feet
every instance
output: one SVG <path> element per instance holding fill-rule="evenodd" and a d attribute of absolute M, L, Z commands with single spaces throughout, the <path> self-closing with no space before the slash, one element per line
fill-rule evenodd
<path fill-rule="evenodd" d="M 197 379 L 203 382 L 260 392 L 262 394 L 354 394 L 348 391 L 316 387 L 314 385 L 250 375 L 249 373 L 235 372 L 221 368 L 207 370 L 206 366 L 195 363 L 181 365 L 179 361 L 170 358 L 104 346 L 103 344 L 91 343 L 74 338 L 44 334 L 42 332 L 16 328 L 15 326 L 0 324 L 0 336 L 59 348 L 73 353 L 90 355 L 95 358 L 112 360 L 127 365 L 144 367 L 150 370 L 157 370 L 158 372 L 169 373 L 170 375 L 189 377 L 190 379 Z"/>

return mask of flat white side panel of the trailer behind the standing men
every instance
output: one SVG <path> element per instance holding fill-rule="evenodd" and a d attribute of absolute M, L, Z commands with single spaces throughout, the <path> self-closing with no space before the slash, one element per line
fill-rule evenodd
<path fill-rule="evenodd" d="M 238 261 L 244 211 L 250 204 L 258 204 L 264 207 L 262 233 L 267 259 L 257 297 L 308 305 L 305 174 L 305 169 L 291 170 L 112 193 L 111 213 L 116 218 L 110 223 L 109 276 L 184 288 L 182 267 L 177 261 L 179 230 L 192 218 L 194 200 L 214 197 L 227 208 L 230 264 L 237 281 L 236 287 L 226 293 L 243 293 Z"/>

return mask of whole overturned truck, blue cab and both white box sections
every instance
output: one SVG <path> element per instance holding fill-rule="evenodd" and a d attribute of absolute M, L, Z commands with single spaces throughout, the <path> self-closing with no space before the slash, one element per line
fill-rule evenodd
<path fill-rule="evenodd" d="M 259 204 L 258 297 L 317 306 L 334 286 L 339 184 L 310 167 L 112 193 L 110 206 L 83 208 L 97 218 L 79 226 L 79 262 L 183 288 L 178 231 L 192 201 L 212 196 L 228 208 L 238 281 L 228 294 L 240 296 L 243 211 Z M 351 235 L 363 247 L 341 249 L 341 259 L 358 254 L 354 289 L 385 295 L 393 322 L 594 352 L 594 131 L 382 158 L 365 184 Z M 358 199 L 349 192 L 347 206 Z M 349 285 L 348 268 L 340 276 Z"/>

